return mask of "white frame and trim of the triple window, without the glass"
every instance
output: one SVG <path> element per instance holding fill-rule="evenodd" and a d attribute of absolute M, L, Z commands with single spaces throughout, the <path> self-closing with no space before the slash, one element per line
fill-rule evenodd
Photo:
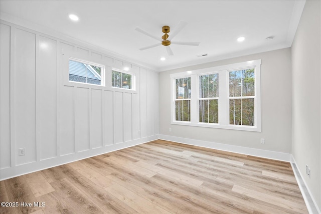
<path fill-rule="evenodd" d="M 255 75 L 255 95 L 254 98 L 254 126 L 230 125 L 229 121 L 229 72 L 241 69 L 254 69 Z M 199 122 L 199 76 L 204 74 L 219 74 L 219 123 Z M 261 60 L 251 60 L 247 62 L 234 63 L 224 66 L 211 67 L 193 71 L 171 74 L 171 124 L 190 125 L 210 128 L 223 128 L 243 131 L 261 131 Z M 191 121 L 176 121 L 175 109 L 175 80 L 178 78 L 191 77 Z"/>

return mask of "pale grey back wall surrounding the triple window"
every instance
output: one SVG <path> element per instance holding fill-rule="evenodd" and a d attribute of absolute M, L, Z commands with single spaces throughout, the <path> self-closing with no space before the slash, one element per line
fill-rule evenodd
<path fill-rule="evenodd" d="M 261 132 L 171 124 L 170 74 L 257 59 L 262 59 Z M 259 154 L 261 150 L 271 151 L 274 154 L 280 152 L 282 154 L 279 157 L 269 156 L 268 152 L 265 156 L 289 161 L 291 153 L 290 48 L 161 72 L 159 73 L 159 87 L 159 134 L 161 138 L 248 154 L 256 153 L 259 156 L 262 156 Z M 169 132 L 169 128 L 172 132 Z M 260 138 L 265 138 L 265 144 L 260 144 Z"/>

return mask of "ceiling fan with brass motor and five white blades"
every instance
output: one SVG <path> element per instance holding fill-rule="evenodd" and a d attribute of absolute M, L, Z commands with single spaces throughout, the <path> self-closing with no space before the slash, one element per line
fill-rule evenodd
<path fill-rule="evenodd" d="M 140 28 L 136 28 L 135 30 L 148 36 L 148 37 L 151 37 L 155 40 L 158 40 L 159 42 L 161 43 L 157 43 L 157 44 L 154 44 L 154 45 L 151 45 L 151 46 L 147 46 L 147 47 L 144 47 L 144 48 L 140 48 L 139 50 L 140 51 L 143 51 L 143 50 L 146 50 L 146 49 L 149 49 L 149 48 L 154 48 L 154 47 L 157 47 L 157 46 L 160 46 L 160 45 L 164 45 L 166 47 L 166 50 L 167 50 L 167 53 L 169 56 L 173 56 L 173 51 L 170 47 L 171 44 L 174 44 L 174 45 L 190 45 L 190 46 L 199 46 L 200 43 L 199 42 L 176 42 L 176 41 L 172 41 L 173 38 L 178 34 L 180 33 L 180 31 L 185 28 L 187 25 L 187 22 L 185 21 L 180 21 L 180 23 L 177 25 L 177 27 L 174 29 L 173 33 L 171 35 L 168 35 L 168 33 L 170 33 L 171 31 L 171 28 L 169 26 L 163 26 L 162 28 L 162 31 L 163 33 L 165 33 L 163 36 L 162 36 L 162 39 L 161 38 L 158 38 L 156 36 L 153 36 L 149 33 L 147 33 L 146 31 L 140 29 Z M 168 40 L 170 37 L 171 40 Z"/>

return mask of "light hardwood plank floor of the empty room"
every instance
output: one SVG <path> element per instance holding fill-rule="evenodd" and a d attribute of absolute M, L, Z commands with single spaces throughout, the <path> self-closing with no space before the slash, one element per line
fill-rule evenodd
<path fill-rule="evenodd" d="M 287 162 L 156 140 L 0 182 L 1 213 L 308 213 Z"/>

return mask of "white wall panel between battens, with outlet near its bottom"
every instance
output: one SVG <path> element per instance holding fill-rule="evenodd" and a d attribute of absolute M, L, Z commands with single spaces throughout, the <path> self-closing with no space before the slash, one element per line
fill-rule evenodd
<path fill-rule="evenodd" d="M 16 165 L 21 165 L 35 162 L 37 158 L 36 34 L 17 28 L 14 55 L 15 143 L 16 149 L 26 148 L 26 155 L 16 155 Z"/>

